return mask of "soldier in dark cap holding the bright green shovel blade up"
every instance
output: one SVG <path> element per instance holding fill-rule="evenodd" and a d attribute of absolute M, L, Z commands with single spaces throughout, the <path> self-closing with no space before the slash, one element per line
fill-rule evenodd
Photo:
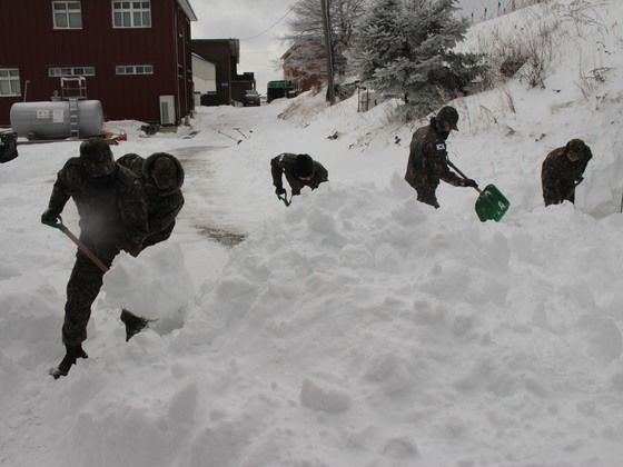
<path fill-rule="evenodd" d="M 477 188 L 474 180 L 462 178 L 447 165 L 446 139 L 452 130 L 458 130 L 458 112 L 446 106 L 426 127 L 417 129 L 409 146 L 409 160 L 405 180 L 415 188 L 417 200 L 435 208 L 439 207 L 435 191 L 439 180 L 455 187 Z"/>

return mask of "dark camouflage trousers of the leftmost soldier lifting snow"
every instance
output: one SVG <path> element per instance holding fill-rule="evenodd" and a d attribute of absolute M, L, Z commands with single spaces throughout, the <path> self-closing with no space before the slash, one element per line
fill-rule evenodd
<path fill-rule="evenodd" d="M 108 267 L 120 250 L 116 247 L 90 249 Z M 62 342 L 65 345 L 78 346 L 87 339 L 91 305 L 101 289 L 102 281 L 103 271 L 78 251 L 69 282 L 67 282 L 67 302 L 62 324 Z"/>

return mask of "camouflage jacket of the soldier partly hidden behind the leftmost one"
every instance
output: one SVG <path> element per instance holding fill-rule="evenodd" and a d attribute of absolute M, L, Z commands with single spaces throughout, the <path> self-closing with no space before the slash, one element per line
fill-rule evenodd
<path fill-rule="evenodd" d="M 156 160 L 154 156 L 144 159 L 139 155 L 129 153 L 117 160 L 117 163 L 127 167 L 142 180 L 149 223 L 149 235 L 144 242 L 144 247 L 158 244 L 170 237 L 176 217 L 184 206 L 181 193 L 184 169 L 179 160 L 172 156 L 170 159 L 177 166 L 178 180 L 177 186 L 167 191 L 158 189 L 151 179 L 150 170 Z"/>

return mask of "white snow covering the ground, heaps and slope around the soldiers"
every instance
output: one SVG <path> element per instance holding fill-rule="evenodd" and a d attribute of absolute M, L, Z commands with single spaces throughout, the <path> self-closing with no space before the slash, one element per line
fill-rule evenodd
<path fill-rule="evenodd" d="M 75 247 L 39 218 L 79 143 L 20 146 L 0 166 L 0 465 L 620 466 L 623 6 L 557 3 L 545 88 L 453 103 L 451 157 L 511 200 L 498 223 L 472 189 L 415 201 L 419 123 L 392 102 L 200 108 L 192 138 L 107 123 L 129 137 L 116 157 L 180 158 L 186 206 L 168 242 L 118 257 L 90 358 L 59 380 Z M 587 98 L 586 57 L 605 69 Z M 594 155 L 577 202 L 544 208 L 541 162 L 576 137 Z M 284 151 L 329 171 L 289 208 L 269 170 Z M 71 201 L 63 220 L 77 230 Z M 121 305 L 160 319 L 126 344 Z"/>

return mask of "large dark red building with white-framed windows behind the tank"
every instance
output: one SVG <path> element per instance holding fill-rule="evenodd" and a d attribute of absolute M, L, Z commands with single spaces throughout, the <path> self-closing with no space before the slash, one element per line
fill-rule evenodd
<path fill-rule="evenodd" d="M 107 120 L 177 125 L 194 109 L 189 0 L 0 0 L 0 126 L 86 77 Z"/>

